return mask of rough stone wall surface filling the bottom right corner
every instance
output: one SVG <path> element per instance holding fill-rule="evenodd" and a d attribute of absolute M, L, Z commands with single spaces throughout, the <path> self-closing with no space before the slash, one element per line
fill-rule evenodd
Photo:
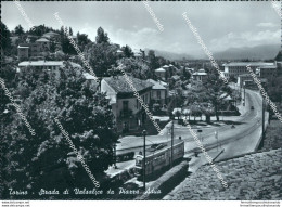
<path fill-rule="evenodd" d="M 164 199 L 258 200 L 282 198 L 282 148 L 216 163 L 229 187 L 209 165 L 202 166 Z"/>

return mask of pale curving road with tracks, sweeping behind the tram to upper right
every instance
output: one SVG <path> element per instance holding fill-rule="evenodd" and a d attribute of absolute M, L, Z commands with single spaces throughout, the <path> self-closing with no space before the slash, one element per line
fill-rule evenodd
<path fill-rule="evenodd" d="M 229 119 L 233 120 L 235 128 L 231 128 L 231 125 L 202 128 L 203 132 L 198 134 L 198 137 L 201 137 L 201 141 L 203 138 L 202 143 L 207 151 L 218 147 L 215 131 L 217 130 L 218 132 L 218 143 L 221 148 L 225 148 L 225 153 L 222 153 L 217 160 L 255 151 L 261 134 L 261 103 L 262 100 L 258 92 L 246 90 L 246 105 L 244 107 L 248 111 L 243 116 L 229 117 Z M 251 109 L 251 106 L 254 106 L 254 109 Z M 268 120 L 267 117 L 268 116 L 266 116 L 266 122 Z M 228 117 L 225 117 L 225 119 L 228 119 Z M 193 130 L 196 132 L 196 129 Z M 175 139 L 178 139 L 178 137 L 181 137 L 182 140 L 185 141 L 185 153 L 200 151 L 193 137 L 185 127 L 176 125 Z M 153 143 L 162 143 L 169 140 L 170 135 L 166 132 L 162 137 L 146 137 L 146 144 L 151 145 Z M 142 144 L 143 138 L 133 137 L 128 140 L 121 140 L 120 145 L 123 146 L 120 147 L 119 145 L 117 154 L 126 152 L 138 153 L 142 151 Z M 132 165 L 131 163 L 129 164 Z"/>

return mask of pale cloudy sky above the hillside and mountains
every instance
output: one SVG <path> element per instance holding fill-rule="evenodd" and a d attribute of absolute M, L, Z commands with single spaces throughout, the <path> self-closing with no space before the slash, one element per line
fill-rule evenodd
<path fill-rule="evenodd" d="M 281 21 L 270 1 L 148 2 L 164 30 L 161 31 L 143 2 L 27 1 L 20 2 L 33 25 L 59 29 L 54 13 L 76 34 L 94 41 L 101 26 L 111 42 L 132 49 L 155 49 L 202 56 L 204 51 L 182 14 L 185 12 L 208 50 L 281 44 Z M 10 30 L 28 23 L 13 2 L 1 2 L 1 20 Z"/>

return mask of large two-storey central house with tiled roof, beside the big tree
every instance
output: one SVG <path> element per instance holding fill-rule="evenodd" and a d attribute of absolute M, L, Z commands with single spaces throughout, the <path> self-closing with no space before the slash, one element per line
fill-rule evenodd
<path fill-rule="evenodd" d="M 129 77 L 143 102 L 149 105 L 153 83 Z M 123 76 L 103 78 L 101 92 L 105 92 L 115 116 L 117 130 L 137 130 L 148 121 L 146 113 Z"/>

